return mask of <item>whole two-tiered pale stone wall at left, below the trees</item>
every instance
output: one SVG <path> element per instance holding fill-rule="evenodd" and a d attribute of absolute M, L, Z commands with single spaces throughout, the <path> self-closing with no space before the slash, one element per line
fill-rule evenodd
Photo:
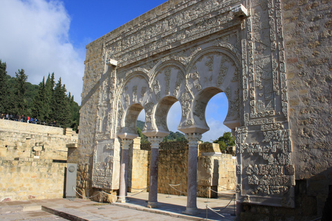
<path fill-rule="evenodd" d="M 64 197 L 67 147 L 77 147 L 71 128 L 0 119 L 0 201 Z"/>

